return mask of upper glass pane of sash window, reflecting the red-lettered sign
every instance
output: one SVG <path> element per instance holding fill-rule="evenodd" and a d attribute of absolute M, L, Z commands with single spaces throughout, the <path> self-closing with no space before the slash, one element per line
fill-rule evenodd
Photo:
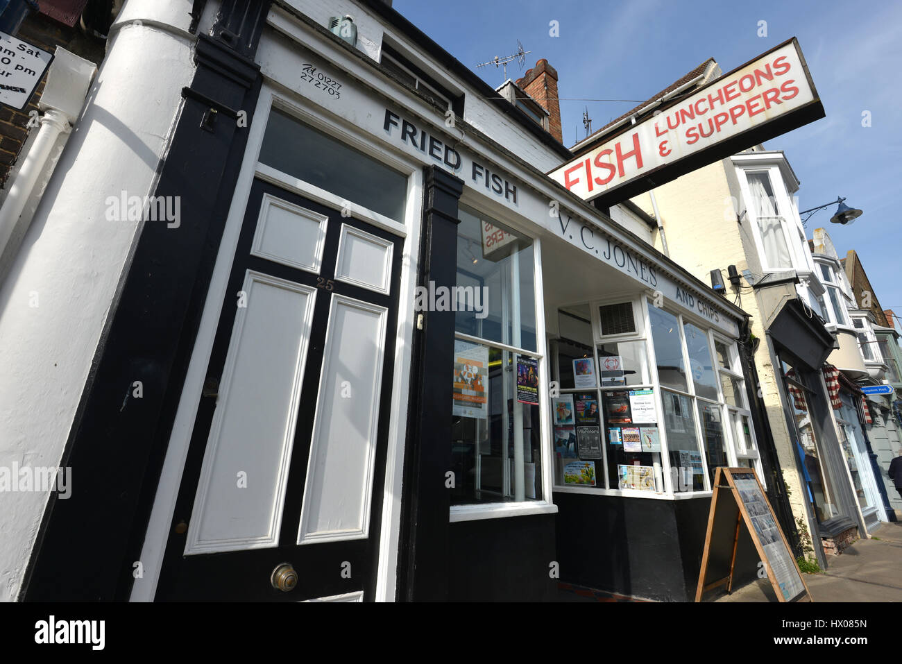
<path fill-rule="evenodd" d="M 456 331 L 536 350 L 532 240 L 469 208 L 457 216 Z"/>

